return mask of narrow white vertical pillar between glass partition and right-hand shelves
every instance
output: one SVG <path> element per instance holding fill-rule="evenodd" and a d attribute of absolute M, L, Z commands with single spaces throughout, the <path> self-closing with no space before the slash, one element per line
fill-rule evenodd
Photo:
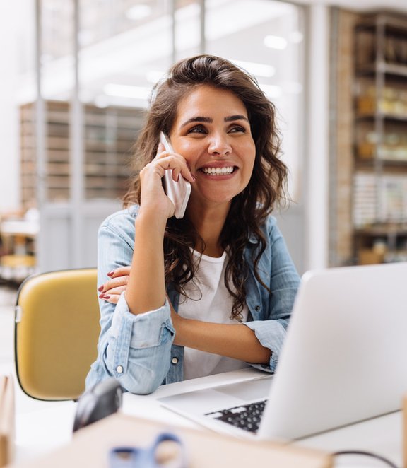
<path fill-rule="evenodd" d="M 309 6 L 305 270 L 328 266 L 329 248 L 329 8 Z"/>

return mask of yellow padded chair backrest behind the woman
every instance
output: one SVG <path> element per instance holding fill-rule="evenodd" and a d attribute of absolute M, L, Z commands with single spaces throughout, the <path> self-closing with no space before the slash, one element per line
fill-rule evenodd
<path fill-rule="evenodd" d="M 77 399 L 97 356 L 100 333 L 96 269 L 30 276 L 16 303 L 16 374 L 23 392 Z"/>

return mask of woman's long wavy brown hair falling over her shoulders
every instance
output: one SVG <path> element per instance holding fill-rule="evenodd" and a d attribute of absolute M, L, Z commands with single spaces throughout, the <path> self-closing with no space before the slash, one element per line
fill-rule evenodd
<path fill-rule="evenodd" d="M 220 235 L 220 245 L 228 252 L 225 286 L 233 298 L 231 317 L 239 318 L 245 303 L 248 275 L 244 250 L 251 236 L 256 240 L 256 248 L 252 249 L 254 275 L 269 291 L 269 286 L 261 281 L 258 272 L 259 258 L 266 248 L 261 226 L 276 205 L 285 201 L 288 172 L 280 159 L 275 107 L 261 91 L 256 79 L 228 60 L 212 55 L 191 57 L 172 66 L 167 78 L 153 88 L 146 124 L 134 145 L 135 175 L 123 202 L 124 207 L 140 203 L 138 173 L 155 157 L 160 131 L 170 134 L 179 101 L 200 85 L 229 90 L 242 100 L 256 146 L 252 177 L 247 187 L 232 199 Z M 191 248 L 195 247 L 202 249 L 204 241 L 188 216 L 168 219 L 164 238 L 165 281 L 172 283 L 175 291 L 184 296 L 187 296 L 185 285 L 194 281 L 196 262 Z M 199 284 L 196 286 L 199 287 Z"/>

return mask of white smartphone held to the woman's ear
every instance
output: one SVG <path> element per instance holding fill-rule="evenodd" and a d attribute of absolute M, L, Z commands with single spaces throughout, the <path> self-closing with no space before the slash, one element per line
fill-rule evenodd
<path fill-rule="evenodd" d="M 163 131 L 160 132 L 160 142 L 164 145 L 166 151 L 174 153 L 170 139 Z M 163 177 L 163 185 L 167 197 L 175 206 L 175 218 L 183 218 L 191 194 L 191 184 L 182 175 L 179 175 L 179 180 L 176 182 L 172 179 L 172 169 L 167 169 Z"/>

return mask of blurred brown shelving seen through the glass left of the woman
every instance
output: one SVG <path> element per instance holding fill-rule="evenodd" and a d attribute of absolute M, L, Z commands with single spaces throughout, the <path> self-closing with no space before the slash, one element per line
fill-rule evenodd
<path fill-rule="evenodd" d="M 85 199 L 117 199 L 129 177 L 131 146 L 143 121 L 143 110 L 85 105 L 83 147 Z M 70 107 L 48 101 L 46 116 L 46 185 L 49 201 L 70 197 Z M 20 108 L 21 190 L 25 209 L 36 206 L 35 104 Z"/>

